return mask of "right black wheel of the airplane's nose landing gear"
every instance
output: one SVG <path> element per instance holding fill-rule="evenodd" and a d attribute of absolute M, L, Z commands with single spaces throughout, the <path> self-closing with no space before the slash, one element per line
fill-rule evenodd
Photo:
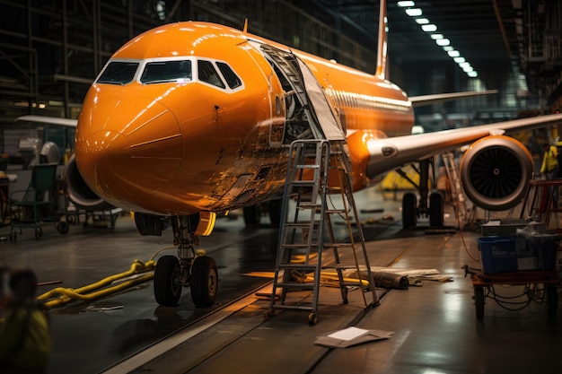
<path fill-rule="evenodd" d="M 191 266 L 191 300 L 202 307 L 215 303 L 218 291 L 218 271 L 213 257 L 196 257 Z"/>

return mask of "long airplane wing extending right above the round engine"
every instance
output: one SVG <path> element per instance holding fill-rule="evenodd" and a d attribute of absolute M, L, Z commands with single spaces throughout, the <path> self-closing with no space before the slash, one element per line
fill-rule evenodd
<path fill-rule="evenodd" d="M 367 143 L 370 159 L 367 162 L 366 176 L 374 178 L 388 170 L 426 159 L 435 154 L 452 151 L 488 135 L 517 134 L 533 128 L 561 123 L 562 114 L 553 114 L 435 133 L 372 139 Z"/>

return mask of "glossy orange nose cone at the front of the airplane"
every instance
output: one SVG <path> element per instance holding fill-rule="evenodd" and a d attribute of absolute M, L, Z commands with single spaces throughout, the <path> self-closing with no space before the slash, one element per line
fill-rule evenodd
<path fill-rule="evenodd" d="M 180 126 L 158 101 L 106 98 L 84 105 L 75 148 L 88 186 L 108 201 L 123 203 L 131 196 L 154 196 L 175 177 L 182 153 Z"/>

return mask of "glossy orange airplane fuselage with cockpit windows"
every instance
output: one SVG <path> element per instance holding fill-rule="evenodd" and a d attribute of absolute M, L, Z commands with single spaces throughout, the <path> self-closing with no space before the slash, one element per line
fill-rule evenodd
<path fill-rule="evenodd" d="M 260 44 L 290 50 L 205 22 L 165 25 L 120 48 L 78 121 L 87 184 L 110 204 L 155 214 L 224 212 L 280 196 L 292 109 Z M 354 188 L 365 187 L 367 142 L 410 134 L 411 102 L 375 75 L 291 52 L 346 129 Z"/>

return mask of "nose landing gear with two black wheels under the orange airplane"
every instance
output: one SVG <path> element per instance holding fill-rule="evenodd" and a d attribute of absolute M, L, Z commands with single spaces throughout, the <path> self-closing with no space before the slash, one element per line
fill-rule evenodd
<path fill-rule="evenodd" d="M 196 253 L 198 235 L 208 235 L 215 224 L 214 213 L 171 217 L 174 245 L 178 257 L 162 256 L 154 270 L 154 298 L 163 306 L 175 307 L 183 287 L 191 288 L 191 300 L 197 306 L 215 303 L 218 271 L 212 257 Z"/>

